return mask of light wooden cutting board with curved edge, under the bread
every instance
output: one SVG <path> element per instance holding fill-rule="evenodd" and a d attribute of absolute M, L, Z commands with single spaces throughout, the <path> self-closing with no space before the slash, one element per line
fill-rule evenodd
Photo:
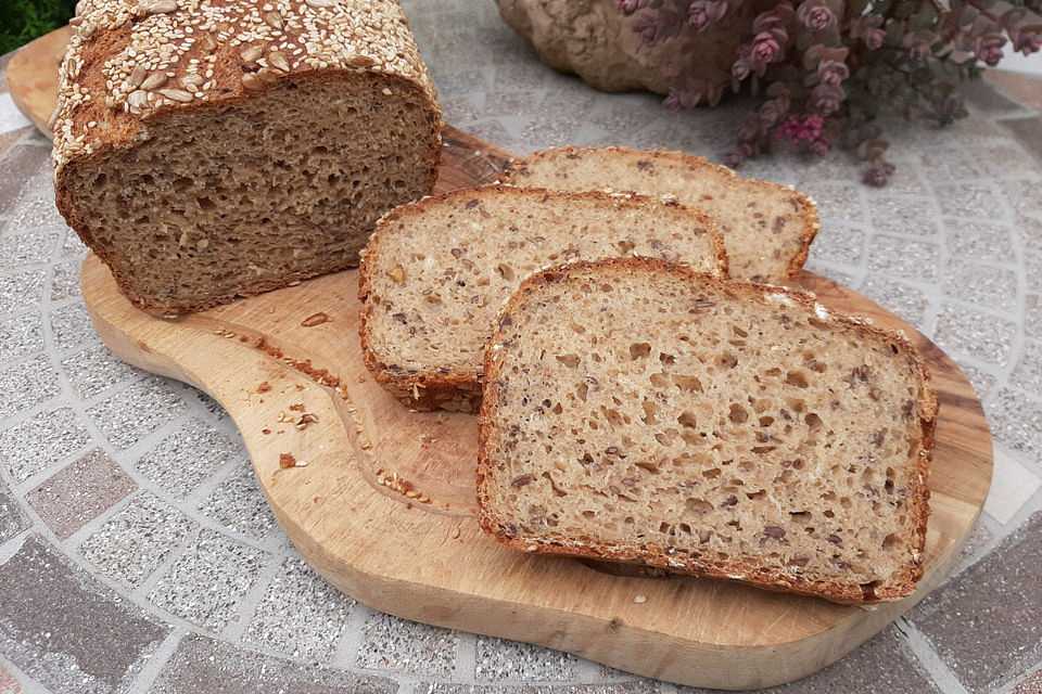
<path fill-rule="evenodd" d="M 12 60 L 17 103 L 46 125 L 60 38 Z M 26 76 L 31 76 L 27 78 Z M 494 180 L 507 154 L 445 130 L 439 191 Z M 88 310 L 127 361 L 190 383 L 234 419 L 287 535 L 332 584 L 377 609 L 538 643 L 672 682 L 755 689 L 814 672 L 907 611 L 949 575 L 991 480 L 991 436 L 960 368 L 868 299 L 805 273 L 826 306 L 904 330 L 941 401 L 926 576 L 871 609 L 694 578 L 619 576 L 520 554 L 486 537 L 474 507 L 474 420 L 416 413 L 378 386 L 357 339 L 357 272 L 331 274 L 177 319 L 135 309 L 93 255 Z M 321 320 L 325 318 L 325 320 Z M 297 428 L 302 414 L 316 421 Z M 306 465 L 283 467 L 281 461 Z M 609 569 L 610 570 L 610 569 Z"/>

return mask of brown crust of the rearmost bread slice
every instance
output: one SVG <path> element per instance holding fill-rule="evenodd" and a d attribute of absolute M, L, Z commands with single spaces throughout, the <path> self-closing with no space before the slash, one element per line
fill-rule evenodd
<path fill-rule="evenodd" d="M 677 150 L 656 149 L 656 150 L 641 151 L 641 150 L 634 150 L 632 147 L 626 147 L 626 146 L 580 147 L 574 145 L 568 145 L 562 147 L 550 147 L 547 150 L 541 150 L 526 157 L 518 157 L 516 159 L 512 159 L 509 166 L 507 167 L 507 169 L 500 176 L 500 180 L 503 180 L 504 183 L 523 184 L 518 181 L 518 178 L 523 175 L 524 166 L 529 162 L 532 162 L 534 159 L 546 159 L 546 158 L 557 157 L 557 156 L 581 157 L 584 154 L 592 154 L 598 151 L 611 152 L 625 157 L 632 157 L 632 156 L 639 157 L 639 156 L 646 156 L 650 154 L 656 157 L 661 157 L 664 159 L 676 162 L 682 166 L 702 168 L 702 169 L 714 169 L 716 171 L 725 171 L 726 175 L 733 178 L 738 178 L 738 175 L 733 169 L 726 166 L 720 166 L 717 164 L 713 164 L 706 157 L 696 156 L 694 154 L 687 154 L 686 152 L 679 152 Z M 762 187 L 764 189 L 770 188 L 772 190 L 783 189 L 789 192 L 797 193 L 799 195 L 799 201 L 801 204 L 801 209 L 799 210 L 799 215 L 803 218 L 803 231 L 800 234 L 800 248 L 799 250 L 797 250 L 795 255 L 792 255 L 789 258 L 788 264 L 786 266 L 786 277 L 788 278 L 799 277 L 799 274 L 803 271 L 803 265 L 806 262 L 808 255 L 811 252 L 811 243 L 814 242 L 814 237 L 817 235 L 817 231 L 821 228 L 821 222 L 817 219 L 817 210 L 814 208 L 814 204 L 811 202 L 809 197 L 806 197 L 806 195 L 803 195 L 791 185 L 783 185 L 780 183 L 772 183 L 770 181 L 759 181 L 757 179 L 751 179 L 751 178 L 745 178 L 744 180 L 752 185 Z"/>

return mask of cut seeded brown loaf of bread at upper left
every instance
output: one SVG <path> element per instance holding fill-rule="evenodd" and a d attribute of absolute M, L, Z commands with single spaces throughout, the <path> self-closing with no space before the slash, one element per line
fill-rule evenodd
<path fill-rule="evenodd" d="M 81 0 L 73 24 L 58 207 L 140 307 L 357 265 L 433 187 L 441 110 L 393 0 Z"/>

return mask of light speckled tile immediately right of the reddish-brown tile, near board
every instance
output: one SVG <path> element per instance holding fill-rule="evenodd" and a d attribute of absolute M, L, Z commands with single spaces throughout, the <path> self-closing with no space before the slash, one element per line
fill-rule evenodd
<path fill-rule="evenodd" d="M 193 419 L 156 444 L 135 467 L 175 499 L 183 499 L 221 466 L 243 455 L 241 440 Z"/>

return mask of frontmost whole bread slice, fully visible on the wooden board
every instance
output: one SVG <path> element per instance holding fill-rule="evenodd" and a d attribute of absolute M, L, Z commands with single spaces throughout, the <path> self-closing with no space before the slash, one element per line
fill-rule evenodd
<path fill-rule="evenodd" d="M 528 279 L 486 355 L 479 519 L 507 547 L 849 602 L 922 577 L 937 400 L 903 335 L 614 259 Z"/>

